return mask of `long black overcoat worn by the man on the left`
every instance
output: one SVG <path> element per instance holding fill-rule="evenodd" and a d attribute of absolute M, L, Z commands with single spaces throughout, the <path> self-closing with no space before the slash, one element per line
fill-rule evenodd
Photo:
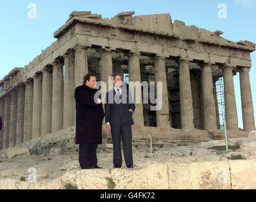
<path fill-rule="evenodd" d="M 75 88 L 75 144 L 102 143 L 101 129 L 105 114 L 102 104 L 94 102 L 97 91 L 85 84 Z"/>

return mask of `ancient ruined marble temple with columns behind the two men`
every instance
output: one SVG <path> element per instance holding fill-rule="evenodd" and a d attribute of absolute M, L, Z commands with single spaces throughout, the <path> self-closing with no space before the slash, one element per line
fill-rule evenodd
<path fill-rule="evenodd" d="M 136 104 L 134 135 L 151 133 L 191 138 L 221 133 L 215 82 L 224 79 L 227 130 L 232 137 L 255 129 L 249 72 L 249 41 L 232 42 L 169 14 L 101 18 L 73 11 L 54 32 L 56 41 L 24 68 L 0 81 L 0 150 L 20 146 L 75 126 L 74 91 L 87 73 L 108 83 L 114 72 L 124 81 L 162 81 L 163 107 Z M 238 129 L 233 76 L 239 73 L 243 130 Z M 105 128 L 103 126 L 103 128 Z M 210 132 L 209 132 L 210 131 Z"/>

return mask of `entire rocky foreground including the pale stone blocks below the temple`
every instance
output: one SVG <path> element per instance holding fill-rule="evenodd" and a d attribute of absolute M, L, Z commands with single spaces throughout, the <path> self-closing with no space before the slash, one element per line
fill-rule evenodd
<path fill-rule="evenodd" d="M 134 169 L 127 169 L 125 163 L 123 163 L 122 169 L 113 169 L 112 150 L 108 149 L 98 150 L 98 165 L 103 169 L 93 170 L 80 169 L 77 151 L 60 153 L 58 148 L 53 148 L 49 153 L 42 155 L 13 158 L 7 158 L 8 155 L 2 152 L 0 156 L 0 189 L 65 189 L 65 184 L 68 182 L 75 184 L 78 189 L 108 189 L 109 179 L 113 179 L 115 182 L 115 189 L 137 189 L 138 187 L 141 189 L 252 188 L 251 185 L 241 185 L 241 180 L 245 178 L 239 176 L 240 171 L 235 163 L 237 160 L 231 160 L 231 156 L 242 155 L 244 160 L 240 161 L 245 161 L 245 167 L 250 171 L 250 166 L 246 162 L 254 161 L 251 167 L 255 166 L 256 150 L 217 151 L 200 148 L 200 145 L 203 144 L 194 147 L 189 145 L 153 148 L 152 154 L 150 148 L 133 147 Z M 226 173 L 229 172 L 230 165 L 233 165 L 233 169 L 236 170 L 233 176 L 240 185 L 238 183 L 231 187 L 230 177 L 222 185 L 215 182 L 215 184 L 210 183 L 210 179 L 216 181 L 219 177 L 216 171 L 217 167 L 221 167 Z M 239 166 L 243 167 L 243 165 Z M 31 168 L 36 170 L 37 182 L 28 182 Z M 209 169 L 215 171 L 209 171 Z M 170 171 L 175 175 L 170 175 Z M 179 179 L 178 176 L 185 174 L 190 177 L 186 179 L 188 181 L 186 186 L 182 186 L 184 179 Z M 193 179 L 197 179 L 199 184 L 195 184 Z M 134 184 L 137 181 L 138 186 Z M 254 181 L 252 180 L 250 183 L 252 184 L 252 182 Z"/>

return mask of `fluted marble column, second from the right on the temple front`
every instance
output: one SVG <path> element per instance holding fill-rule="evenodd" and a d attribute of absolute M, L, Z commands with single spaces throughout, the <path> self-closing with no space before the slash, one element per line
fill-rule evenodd
<path fill-rule="evenodd" d="M 232 66 L 224 66 L 223 78 L 227 129 L 238 129 L 238 115 L 236 111 L 236 98 L 234 95 Z"/>

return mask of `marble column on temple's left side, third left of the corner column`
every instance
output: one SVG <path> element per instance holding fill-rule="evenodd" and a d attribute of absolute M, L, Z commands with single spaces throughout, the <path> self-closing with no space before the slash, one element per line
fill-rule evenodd
<path fill-rule="evenodd" d="M 51 133 L 51 103 L 53 95 L 53 73 L 51 68 L 42 69 L 42 122 L 41 136 Z"/>

